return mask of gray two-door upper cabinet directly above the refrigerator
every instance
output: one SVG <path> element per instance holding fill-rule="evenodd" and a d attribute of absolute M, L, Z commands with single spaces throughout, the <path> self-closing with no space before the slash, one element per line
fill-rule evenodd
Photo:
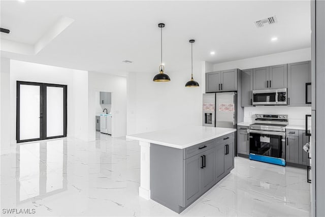
<path fill-rule="evenodd" d="M 237 90 L 238 69 L 209 72 L 205 74 L 205 92 Z"/>

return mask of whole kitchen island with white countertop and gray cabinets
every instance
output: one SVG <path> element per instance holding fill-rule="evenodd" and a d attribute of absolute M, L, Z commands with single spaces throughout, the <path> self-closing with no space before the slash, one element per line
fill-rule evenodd
<path fill-rule="evenodd" d="M 139 140 L 139 195 L 182 212 L 234 168 L 236 129 L 184 126 L 128 135 Z"/>

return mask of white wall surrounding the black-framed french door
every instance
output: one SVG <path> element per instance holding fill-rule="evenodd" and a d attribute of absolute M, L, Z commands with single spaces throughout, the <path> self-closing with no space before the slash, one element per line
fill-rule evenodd
<path fill-rule="evenodd" d="M 87 139 L 88 72 L 53 67 L 18 60 L 10 61 L 10 137 L 16 142 L 16 81 L 32 81 L 68 85 L 69 137 Z"/>

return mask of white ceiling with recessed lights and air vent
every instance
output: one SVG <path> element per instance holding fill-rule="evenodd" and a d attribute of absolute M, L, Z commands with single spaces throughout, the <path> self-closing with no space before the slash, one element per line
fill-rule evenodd
<path fill-rule="evenodd" d="M 254 21 L 276 15 L 278 23 Z M 222 63 L 310 47 L 309 1 L 1 1 L 1 39 L 35 45 L 62 17 L 74 22 L 32 55 L 2 56 L 72 69 L 125 75 L 158 72 L 159 22 L 167 71 L 193 58 Z M 278 41 L 272 42 L 271 38 Z M 215 51 L 214 56 L 210 51 Z M 124 64 L 123 60 L 134 61 Z"/>

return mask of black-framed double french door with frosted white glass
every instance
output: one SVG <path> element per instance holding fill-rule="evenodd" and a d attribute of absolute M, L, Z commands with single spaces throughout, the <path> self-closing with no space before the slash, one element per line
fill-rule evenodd
<path fill-rule="evenodd" d="M 16 140 L 67 136 L 67 85 L 17 81 Z"/>

